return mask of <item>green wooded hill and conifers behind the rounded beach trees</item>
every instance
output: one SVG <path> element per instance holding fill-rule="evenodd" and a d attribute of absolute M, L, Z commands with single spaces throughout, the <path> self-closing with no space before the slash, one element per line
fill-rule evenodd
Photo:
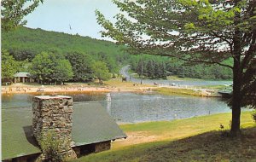
<path fill-rule="evenodd" d="M 94 61 L 103 61 L 112 73 L 117 73 L 119 65 L 131 64 L 134 72 L 140 74 L 140 55 L 125 54 L 116 43 L 90 37 L 71 35 L 63 32 L 48 32 L 42 29 L 20 27 L 12 32 L 2 33 L 2 49 L 9 50 L 16 61 L 32 61 L 41 52 L 53 52 L 66 56 L 73 53 L 90 55 Z M 73 57 L 73 56 L 71 56 Z M 70 58 L 68 59 L 70 60 Z M 232 64 L 231 60 L 227 63 Z M 143 55 L 143 75 L 148 78 L 166 78 L 167 73 L 187 78 L 230 79 L 232 71 L 218 65 L 185 66 L 177 59 Z"/>

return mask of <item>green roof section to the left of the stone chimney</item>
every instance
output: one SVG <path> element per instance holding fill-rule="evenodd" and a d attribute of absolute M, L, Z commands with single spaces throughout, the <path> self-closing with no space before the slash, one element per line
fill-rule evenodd
<path fill-rule="evenodd" d="M 2 109 L 2 159 L 41 153 L 36 143 L 31 108 Z"/>

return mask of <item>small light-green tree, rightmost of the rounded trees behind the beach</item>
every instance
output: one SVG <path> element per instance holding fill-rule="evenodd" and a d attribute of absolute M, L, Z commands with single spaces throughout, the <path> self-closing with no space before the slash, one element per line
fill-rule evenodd
<path fill-rule="evenodd" d="M 103 84 L 103 80 L 108 80 L 110 78 L 108 67 L 105 62 L 96 61 L 92 67 L 94 75 L 99 79 L 99 83 Z"/>

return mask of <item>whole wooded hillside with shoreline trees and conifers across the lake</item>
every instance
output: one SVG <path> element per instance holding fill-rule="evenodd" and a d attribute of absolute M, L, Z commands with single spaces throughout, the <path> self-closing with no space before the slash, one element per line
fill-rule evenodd
<path fill-rule="evenodd" d="M 129 55 L 125 54 L 121 46 L 109 41 L 42 29 L 20 27 L 12 32 L 3 32 L 2 49 L 7 49 L 15 61 L 20 62 L 17 71 L 29 71 L 35 78 L 44 81 L 86 81 L 96 78 L 96 69 L 93 68 L 96 61 L 97 64 L 104 64 L 102 66 L 110 73 L 118 73 L 120 65 L 131 64 L 132 70 L 139 75 L 143 72 L 143 76 L 148 78 L 166 78 L 168 75 L 205 79 L 232 78 L 231 70 L 225 67 L 184 66 L 183 61 L 166 57 Z M 40 66 L 44 67 L 44 72 Z M 67 70 L 70 66 L 72 72 Z M 58 76 L 53 73 L 58 73 Z M 58 78 L 61 73 L 66 74 Z"/>

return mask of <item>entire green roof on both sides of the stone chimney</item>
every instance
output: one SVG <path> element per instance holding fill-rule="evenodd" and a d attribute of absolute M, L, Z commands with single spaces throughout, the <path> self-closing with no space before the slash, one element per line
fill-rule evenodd
<path fill-rule="evenodd" d="M 100 103 L 73 104 L 76 146 L 126 137 Z M 32 108 L 2 109 L 2 160 L 40 153 L 32 137 Z"/>

